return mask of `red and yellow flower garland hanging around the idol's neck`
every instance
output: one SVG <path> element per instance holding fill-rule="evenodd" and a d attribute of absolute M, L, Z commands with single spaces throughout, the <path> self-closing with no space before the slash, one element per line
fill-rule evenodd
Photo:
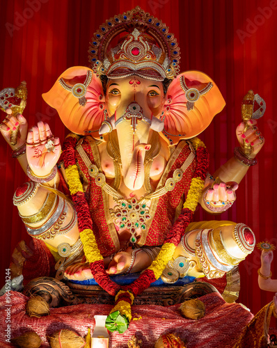
<path fill-rule="evenodd" d="M 173 257 L 176 246 L 180 243 L 184 231 L 192 221 L 193 213 L 198 204 L 198 200 L 203 191 L 207 168 L 209 166 L 209 155 L 205 145 L 198 138 L 191 139 L 193 148 L 196 149 L 196 171 L 191 180 L 187 199 L 184 202 L 182 212 L 175 221 L 171 230 L 168 232 L 161 251 L 157 258 L 152 262 L 134 283 L 122 287 L 114 283 L 104 269 L 104 260 L 97 246 L 95 235 L 92 230 L 88 203 L 84 196 L 84 189 L 79 179 L 79 172 L 75 159 L 75 145 L 77 139 L 71 134 L 65 139 L 63 144 L 63 159 L 65 164 L 65 174 L 68 178 L 68 185 L 72 200 L 78 216 L 78 226 L 81 242 L 84 245 L 86 259 L 90 262 L 90 270 L 96 282 L 109 294 L 116 296 L 116 306 L 111 310 L 106 320 L 106 326 L 113 331 L 123 333 L 132 319 L 131 305 L 134 303 L 134 296 L 147 289 L 151 283 L 155 282 L 160 276 L 168 261 Z M 122 324 L 123 320 L 123 324 Z M 123 329 L 124 328 L 124 329 Z"/>

